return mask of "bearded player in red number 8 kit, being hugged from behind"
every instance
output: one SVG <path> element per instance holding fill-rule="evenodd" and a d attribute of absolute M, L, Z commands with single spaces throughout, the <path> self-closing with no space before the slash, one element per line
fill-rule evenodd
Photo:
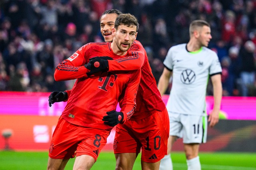
<path fill-rule="evenodd" d="M 64 169 L 75 155 L 74 170 L 90 169 L 106 145 L 111 129 L 134 113 L 140 69 L 87 73 L 92 67 L 88 62 L 95 56 L 127 57 L 137 30 L 134 16 L 120 14 L 112 32 L 112 43 L 88 43 L 56 67 L 56 81 L 77 80 L 52 136 L 48 170 Z M 97 62 L 93 64 L 99 66 Z M 118 102 L 120 112 L 116 111 Z"/>

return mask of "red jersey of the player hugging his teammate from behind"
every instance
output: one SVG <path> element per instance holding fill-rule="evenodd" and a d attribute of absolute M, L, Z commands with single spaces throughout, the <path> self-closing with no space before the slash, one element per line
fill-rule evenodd
<path fill-rule="evenodd" d="M 135 40 L 128 50 L 128 56 L 120 60 L 109 60 L 109 71 L 136 70 L 141 68 L 141 79 L 136 97 L 136 111 L 132 119 L 144 119 L 155 110 L 163 111 L 165 104 L 156 85 L 156 79 L 152 74 L 148 63 L 147 53 L 142 44 Z"/>

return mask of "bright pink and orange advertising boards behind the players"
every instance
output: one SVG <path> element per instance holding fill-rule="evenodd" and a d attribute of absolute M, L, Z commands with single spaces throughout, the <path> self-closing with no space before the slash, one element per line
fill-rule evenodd
<path fill-rule="evenodd" d="M 66 102 L 59 102 L 49 107 L 49 95 L 50 93 L 0 92 L 0 132 L 12 134 L 9 139 L 10 149 L 49 149 L 52 133 L 66 106 Z M 166 103 L 168 95 L 163 96 L 163 100 Z M 212 110 L 213 102 L 211 96 L 206 97 L 208 113 Z M 118 107 L 117 110 L 119 109 Z M 223 97 L 220 115 L 224 119 L 256 120 L 256 98 Z M 216 135 L 218 130 L 209 128 L 209 134 L 212 134 L 211 131 Z M 104 150 L 112 150 L 114 136 L 115 127 L 107 138 Z M 218 138 L 217 141 L 222 140 Z M 0 149 L 6 148 L 5 144 L 5 139 L 0 137 Z M 212 146 L 214 145 L 210 143 L 210 147 Z M 183 150 L 182 142 L 174 148 Z M 208 145 L 206 149 L 209 150 Z"/>

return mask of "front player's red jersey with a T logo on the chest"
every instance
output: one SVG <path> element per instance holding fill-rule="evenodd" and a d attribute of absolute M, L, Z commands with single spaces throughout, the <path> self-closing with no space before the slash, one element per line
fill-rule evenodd
<path fill-rule="evenodd" d="M 107 111 L 116 110 L 119 102 L 124 113 L 124 123 L 134 113 L 136 93 L 140 82 L 141 71 L 111 71 L 98 72 L 87 76 L 90 71 L 84 67 L 92 57 L 108 56 L 112 59 L 122 59 L 113 53 L 111 43 L 88 43 L 78 49 L 71 57 L 60 63 L 54 73 L 56 81 L 76 79 L 76 83 L 68 95 L 67 105 L 62 117 L 69 123 L 112 129 L 102 121 Z"/>

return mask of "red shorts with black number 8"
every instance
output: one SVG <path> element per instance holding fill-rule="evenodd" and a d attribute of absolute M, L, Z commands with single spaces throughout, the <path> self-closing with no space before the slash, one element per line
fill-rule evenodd
<path fill-rule="evenodd" d="M 54 159 L 69 159 L 86 154 L 96 162 L 109 134 L 110 131 L 77 126 L 60 117 L 48 155 Z"/>

